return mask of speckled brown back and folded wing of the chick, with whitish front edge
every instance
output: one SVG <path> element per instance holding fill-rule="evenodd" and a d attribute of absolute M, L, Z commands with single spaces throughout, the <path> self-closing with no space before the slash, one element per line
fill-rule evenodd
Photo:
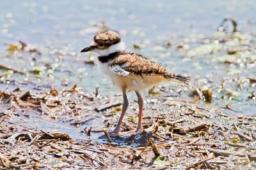
<path fill-rule="evenodd" d="M 111 72 L 120 76 L 128 76 L 129 73 L 134 74 L 166 74 L 167 69 L 154 61 L 148 60 L 146 57 L 137 53 L 121 53 L 109 63 Z"/>

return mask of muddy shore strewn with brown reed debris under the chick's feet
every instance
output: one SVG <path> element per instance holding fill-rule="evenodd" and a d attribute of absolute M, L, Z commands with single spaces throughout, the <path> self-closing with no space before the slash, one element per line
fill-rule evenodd
<path fill-rule="evenodd" d="M 136 135 L 110 135 L 120 114 L 116 101 L 72 87 L 0 92 L 0 169 L 253 169 L 256 167 L 256 118 L 229 115 L 207 104 L 197 104 L 171 94 L 145 97 L 144 131 Z M 119 100 L 120 99 L 120 100 Z M 104 103 L 104 104 L 102 104 Z M 122 131 L 136 127 L 136 102 L 130 101 Z M 101 120 L 102 124 L 72 134 L 45 132 L 22 117 L 36 113 L 51 122 L 76 126 Z M 64 121 L 65 120 L 65 121 Z M 100 142 L 92 139 L 99 138 Z M 92 138 L 92 139 L 91 139 Z"/>

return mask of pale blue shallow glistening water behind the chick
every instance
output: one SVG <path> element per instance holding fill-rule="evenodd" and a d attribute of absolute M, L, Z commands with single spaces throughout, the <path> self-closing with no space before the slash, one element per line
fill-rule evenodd
<path fill-rule="evenodd" d="M 256 78 L 255 66 L 216 62 L 214 59 L 227 53 L 223 49 L 213 55 L 188 56 L 188 50 L 177 50 L 175 45 L 164 46 L 165 41 L 173 44 L 186 41 L 193 50 L 204 39 L 214 41 L 221 20 L 232 17 L 236 19 L 239 31 L 248 32 L 252 37 L 249 43 L 254 46 L 255 53 L 255 8 L 254 1 L 3 1 L 0 4 L 1 64 L 25 72 L 42 69 L 39 77 L 13 74 L 10 80 L 42 81 L 56 89 L 79 83 L 84 90 L 95 91 L 99 87 L 100 94 L 113 95 L 118 90 L 113 88 L 111 81 L 102 76 L 97 67 L 84 64 L 84 60 L 92 56 L 79 53 L 98 31 L 94 25 L 100 25 L 104 20 L 110 29 L 120 31 L 127 50 L 161 62 L 172 72 L 191 76 L 194 85 L 209 87 L 214 94 L 211 106 L 222 108 L 230 103 L 237 115 L 255 116 L 255 100 L 248 99 L 249 94 L 255 91 L 255 84 L 228 83 L 228 90 L 238 92 L 232 101 L 221 99 L 225 94 L 218 92 L 225 77 Z M 8 46 L 3 43 L 18 44 L 19 40 L 35 46 L 42 55 L 10 55 Z M 134 44 L 140 45 L 141 49 L 133 49 Z M 51 69 L 45 65 L 50 65 Z M 5 70 L 0 70 L 0 74 L 4 73 Z M 5 86 L 2 84 L 1 90 Z M 179 90 L 179 87 L 174 89 Z M 193 100 L 188 92 L 183 96 Z"/>

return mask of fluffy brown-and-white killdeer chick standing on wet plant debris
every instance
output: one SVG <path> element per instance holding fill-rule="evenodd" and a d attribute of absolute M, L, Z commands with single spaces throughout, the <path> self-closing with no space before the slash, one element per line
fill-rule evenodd
<path fill-rule="evenodd" d="M 188 84 L 189 77 L 170 73 L 166 67 L 147 57 L 134 52 L 125 51 L 125 43 L 121 41 L 117 31 L 104 29 L 95 34 L 92 43 L 83 48 L 83 52 L 92 52 L 97 55 L 96 64 L 103 73 L 111 78 L 113 85 L 122 91 L 124 101 L 122 113 L 111 134 L 119 134 L 129 101 L 127 92 L 134 91 L 138 98 L 139 113 L 136 129 L 130 131 L 138 134 L 142 131 L 143 97 L 141 90 L 150 89 L 162 81 L 176 81 Z"/>

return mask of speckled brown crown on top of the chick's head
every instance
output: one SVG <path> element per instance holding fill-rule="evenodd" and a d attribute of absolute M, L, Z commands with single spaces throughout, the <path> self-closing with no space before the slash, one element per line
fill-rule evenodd
<path fill-rule="evenodd" d="M 104 43 L 105 45 L 110 46 L 119 43 L 121 39 L 118 32 L 104 29 L 94 36 L 94 41 L 96 43 Z"/>

